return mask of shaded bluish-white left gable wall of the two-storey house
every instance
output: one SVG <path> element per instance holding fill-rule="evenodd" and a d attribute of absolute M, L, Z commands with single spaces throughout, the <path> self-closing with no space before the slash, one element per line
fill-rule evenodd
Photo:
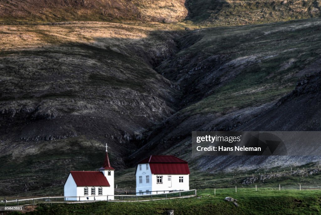
<path fill-rule="evenodd" d="M 142 170 L 139 170 L 139 165 L 137 165 L 136 170 L 136 193 L 138 193 L 140 190 L 143 192 L 146 192 L 146 190 L 152 191 L 152 172 L 148 165 L 148 170 L 146 170 L 146 164 L 142 165 Z M 143 177 L 143 183 L 139 183 L 139 176 Z M 149 183 L 146 183 L 146 176 L 149 176 Z M 146 194 L 146 193 L 143 193 Z M 139 195 L 139 194 L 137 194 Z"/>

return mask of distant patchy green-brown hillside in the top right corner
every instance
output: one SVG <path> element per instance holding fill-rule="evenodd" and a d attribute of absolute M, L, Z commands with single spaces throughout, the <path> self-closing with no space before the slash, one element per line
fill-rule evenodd
<path fill-rule="evenodd" d="M 319 0 L 188 0 L 188 21 L 205 26 L 248 25 L 321 16 Z"/>

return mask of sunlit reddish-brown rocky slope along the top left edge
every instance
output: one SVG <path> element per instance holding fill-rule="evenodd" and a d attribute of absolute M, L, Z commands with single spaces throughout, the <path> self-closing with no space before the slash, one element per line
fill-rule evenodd
<path fill-rule="evenodd" d="M 187 16 L 184 1 L 146 0 L 8 0 L 0 1 L 0 20 L 177 22 Z"/>

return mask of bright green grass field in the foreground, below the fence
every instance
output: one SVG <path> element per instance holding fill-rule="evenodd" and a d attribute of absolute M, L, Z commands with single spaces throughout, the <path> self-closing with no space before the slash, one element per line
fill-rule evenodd
<path fill-rule="evenodd" d="M 237 199 L 239 207 L 224 201 L 225 197 Z M 82 203 L 44 204 L 27 214 L 320 214 L 320 190 L 271 189 L 213 189 L 198 191 L 197 198 L 161 200 L 137 203 Z M 19 213 L 13 213 L 19 214 Z"/>

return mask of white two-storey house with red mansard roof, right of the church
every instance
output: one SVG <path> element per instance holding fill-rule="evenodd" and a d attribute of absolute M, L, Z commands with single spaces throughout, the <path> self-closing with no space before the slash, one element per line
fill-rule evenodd
<path fill-rule="evenodd" d="M 138 162 L 135 176 L 138 195 L 189 190 L 188 163 L 172 155 L 145 158 Z"/>

